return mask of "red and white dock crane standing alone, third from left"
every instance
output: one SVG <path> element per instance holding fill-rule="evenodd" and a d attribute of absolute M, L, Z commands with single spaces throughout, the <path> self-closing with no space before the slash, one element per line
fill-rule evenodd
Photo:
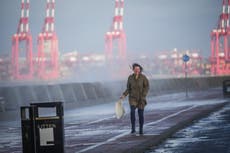
<path fill-rule="evenodd" d="M 113 41 L 117 40 L 118 59 L 126 58 L 126 35 L 123 29 L 124 0 L 115 0 L 113 25 L 105 34 L 105 55 L 107 60 L 114 58 Z"/>

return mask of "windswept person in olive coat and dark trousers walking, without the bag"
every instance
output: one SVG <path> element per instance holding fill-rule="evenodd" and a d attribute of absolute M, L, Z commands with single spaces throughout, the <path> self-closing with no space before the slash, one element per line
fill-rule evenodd
<path fill-rule="evenodd" d="M 129 95 L 130 104 L 130 119 L 132 130 L 131 133 L 136 132 L 135 126 L 135 112 L 138 110 L 139 116 L 139 134 L 143 134 L 144 125 L 144 108 L 147 104 L 146 96 L 149 91 L 149 81 L 144 74 L 142 74 L 143 68 L 141 65 L 134 63 L 132 65 L 133 74 L 128 77 L 127 89 L 122 94 L 121 99 L 124 99 Z"/>

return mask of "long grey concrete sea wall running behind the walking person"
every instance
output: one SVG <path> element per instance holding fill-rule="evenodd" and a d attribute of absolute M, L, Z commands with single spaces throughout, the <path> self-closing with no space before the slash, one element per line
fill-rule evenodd
<path fill-rule="evenodd" d="M 221 87 L 230 76 L 170 78 L 150 80 L 149 96 L 165 93 L 205 90 Z M 126 80 L 95 83 L 43 83 L 0 87 L 3 110 L 18 110 L 33 102 L 63 101 L 66 108 L 96 105 L 117 100 L 126 88 Z"/>

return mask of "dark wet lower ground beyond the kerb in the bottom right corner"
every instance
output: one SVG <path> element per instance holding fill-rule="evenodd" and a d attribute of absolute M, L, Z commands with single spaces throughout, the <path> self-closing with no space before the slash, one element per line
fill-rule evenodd
<path fill-rule="evenodd" d="M 146 153 L 230 153 L 230 104 Z"/>

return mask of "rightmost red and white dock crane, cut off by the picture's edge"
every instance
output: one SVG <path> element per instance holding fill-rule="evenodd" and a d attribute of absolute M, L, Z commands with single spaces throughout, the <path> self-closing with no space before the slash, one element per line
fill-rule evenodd
<path fill-rule="evenodd" d="M 230 0 L 223 0 L 218 26 L 211 32 L 211 74 L 230 74 Z"/>

